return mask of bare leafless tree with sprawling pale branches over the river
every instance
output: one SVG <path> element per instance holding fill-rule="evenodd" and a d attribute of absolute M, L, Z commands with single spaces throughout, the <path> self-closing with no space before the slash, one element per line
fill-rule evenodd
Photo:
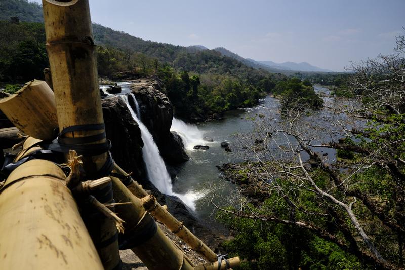
<path fill-rule="evenodd" d="M 234 155 L 241 162 L 223 167 L 225 175 L 238 186 L 234 208 L 218 202 L 215 192 L 208 201 L 237 217 L 308 230 L 363 262 L 383 268 L 402 267 L 404 44 L 404 36 L 399 36 L 395 54 L 352 64 L 349 85 L 353 99 L 336 98 L 317 112 L 303 111 L 302 104 L 297 108 L 297 103 L 288 101 L 289 107 L 277 115 L 259 115 L 252 130 L 235 137 L 238 147 Z M 337 158 L 339 152 L 352 157 Z M 367 172 L 374 170 L 385 175 L 381 182 L 385 182 L 389 196 L 365 188 L 375 178 L 368 178 Z M 303 203 L 302 192 L 313 194 L 315 208 Z M 274 194 L 278 201 L 261 204 Z M 284 205 L 282 214 L 274 211 L 278 202 Z M 341 234 L 329 232 L 326 220 L 334 220 Z M 381 235 L 390 236 L 389 241 L 380 241 Z M 394 249 L 397 252 L 392 256 Z"/>

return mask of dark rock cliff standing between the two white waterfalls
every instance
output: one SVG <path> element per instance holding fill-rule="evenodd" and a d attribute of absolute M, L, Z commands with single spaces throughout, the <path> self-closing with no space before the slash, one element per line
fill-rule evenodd
<path fill-rule="evenodd" d="M 132 81 L 130 89 L 138 101 L 141 121 L 152 134 L 163 159 L 172 165 L 187 161 L 180 136 L 170 132 L 173 106 L 160 92 L 162 83 L 158 79 L 140 79 Z"/>

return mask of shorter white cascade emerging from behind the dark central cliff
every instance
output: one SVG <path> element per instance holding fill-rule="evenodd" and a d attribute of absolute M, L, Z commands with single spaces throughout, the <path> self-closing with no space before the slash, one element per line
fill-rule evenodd
<path fill-rule="evenodd" d="M 180 119 L 173 118 L 171 131 L 175 131 L 183 140 L 184 147 L 187 150 L 193 150 L 195 145 L 206 145 L 204 134 L 196 126 L 186 124 Z"/>

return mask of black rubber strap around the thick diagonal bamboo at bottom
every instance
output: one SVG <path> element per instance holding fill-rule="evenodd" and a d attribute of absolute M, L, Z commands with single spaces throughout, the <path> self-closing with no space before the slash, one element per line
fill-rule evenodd
<path fill-rule="evenodd" d="M 157 225 L 153 218 L 149 218 L 149 222 L 142 228 L 142 230 L 136 230 L 131 236 L 124 235 L 120 237 L 119 250 L 134 248 L 142 245 L 148 241 L 157 232 Z"/>

